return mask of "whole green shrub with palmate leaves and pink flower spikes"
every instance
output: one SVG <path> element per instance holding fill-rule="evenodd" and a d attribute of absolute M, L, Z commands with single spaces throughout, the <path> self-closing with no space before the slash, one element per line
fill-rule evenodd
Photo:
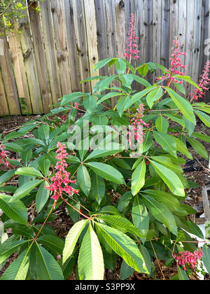
<path fill-rule="evenodd" d="M 154 259 L 167 266 L 177 262 L 179 279 L 188 279 L 186 263 L 195 267 L 200 258 L 209 272 L 208 240 L 187 218 L 196 211 L 183 204 L 190 187 L 183 165 L 193 159 L 187 142 L 209 160 L 201 144 L 209 137 L 195 127 L 197 119 L 210 125 L 209 105 L 183 97 L 183 83 L 195 86 L 194 95 L 207 84 L 181 74 L 178 39 L 174 44 L 171 69 L 102 60 L 95 69 L 115 66 L 115 75 L 85 80 L 98 80 L 91 93 L 68 94 L 48 115 L 0 137 L 1 165 L 7 169 L 0 175 L 1 267 L 18 253 L 2 280 L 68 279 L 75 265 L 77 279 L 104 279 L 104 269 L 114 269 L 118 256 L 120 279 L 134 271 L 155 277 Z M 145 73 L 157 69 L 164 78 L 151 85 Z M 134 81 L 141 91 L 132 89 Z M 114 109 L 112 97 L 118 97 Z M 76 119 L 79 105 L 85 111 Z M 67 149 L 78 129 L 85 130 L 78 148 Z M 136 150 L 125 148 L 126 140 L 132 145 L 130 133 Z M 6 158 L 6 150 L 18 160 Z M 63 206 L 74 225 L 58 236 L 50 223 Z M 190 234 L 204 240 L 202 251 Z"/>

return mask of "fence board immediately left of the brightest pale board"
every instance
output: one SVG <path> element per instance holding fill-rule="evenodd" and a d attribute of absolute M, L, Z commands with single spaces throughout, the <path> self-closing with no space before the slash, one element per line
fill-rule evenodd
<path fill-rule="evenodd" d="M 78 49 L 78 59 L 80 64 L 81 80 L 85 80 L 90 76 L 90 64 L 87 50 L 87 36 L 85 27 L 85 10 L 83 0 L 73 0 L 73 18 L 76 28 L 76 40 Z M 90 92 L 90 83 L 83 83 L 82 88 L 84 92 Z"/>

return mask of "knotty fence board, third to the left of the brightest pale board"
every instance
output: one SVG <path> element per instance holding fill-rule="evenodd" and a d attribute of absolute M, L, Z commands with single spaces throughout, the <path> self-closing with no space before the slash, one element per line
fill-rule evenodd
<path fill-rule="evenodd" d="M 57 50 L 57 63 L 59 66 L 62 96 L 71 93 L 71 78 L 69 73 L 69 58 L 66 47 L 66 27 L 62 1 L 51 0 L 53 27 Z"/>

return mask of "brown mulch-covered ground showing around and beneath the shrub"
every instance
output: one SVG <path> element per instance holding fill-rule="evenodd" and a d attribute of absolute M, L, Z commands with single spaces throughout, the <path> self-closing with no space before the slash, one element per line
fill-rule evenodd
<path fill-rule="evenodd" d="M 17 130 L 19 126 L 23 123 L 27 123 L 29 120 L 34 120 L 36 118 L 40 118 L 41 116 L 25 116 L 25 117 L 8 117 L 8 118 L 0 118 L 0 134 L 3 136 L 12 130 Z M 210 135 L 210 130 L 205 127 L 202 123 L 199 123 L 196 127 L 197 132 L 202 132 L 204 134 Z M 207 148 L 208 153 L 210 154 L 210 144 L 204 143 L 204 146 Z M 193 208 L 197 209 L 197 217 L 200 217 L 203 214 L 202 209 L 202 186 L 206 186 L 210 183 L 210 170 L 209 170 L 209 162 L 207 160 L 203 160 L 200 158 L 193 148 L 189 147 L 189 151 L 193 154 L 193 161 L 188 160 L 184 169 L 186 170 L 185 175 L 188 178 L 188 181 L 196 182 L 199 187 L 198 188 L 190 188 L 188 190 L 188 197 L 186 198 L 186 203 L 190 204 Z M 3 166 L 0 166 L 0 169 L 3 169 Z M 50 223 L 52 227 L 55 229 L 55 232 L 59 237 L 65 237 L 65 235 L 69 232 L 69 229 L 73 225 L 73 222 L 69 217 L 66 216 L 66 209 L 64 206 L 61 206 L 56 214 L 58 218 L 56 221 Z M 6 270 L 10 262 L 13 262 L 17 258 L 17 255 L 12 255 L 6 265 L 0 270 L 0 276 Z M 176 264 L 171 267 L 165 267 L 163 262 L 158 262 L 155 260 L 156 267 L 156 279 L 170 279 L 174 274 L 177 274 Z M 106 270 L 105 279 L 107 280 L 119 280 L 120 279 L 120 260 L 118 260 L 118 265 L 114 271 Z M 76 279 L 75 272 L 71 275 L 70 279 Z M 148 276 L 146 274 L 134 273 L 130 279 L 132 280 L 148 280 Z M 191 279 L 197 279 L 196 276 L 192 276 Z M 206 279 L 210 279 L 209 275 L 206 276 Z"/>

